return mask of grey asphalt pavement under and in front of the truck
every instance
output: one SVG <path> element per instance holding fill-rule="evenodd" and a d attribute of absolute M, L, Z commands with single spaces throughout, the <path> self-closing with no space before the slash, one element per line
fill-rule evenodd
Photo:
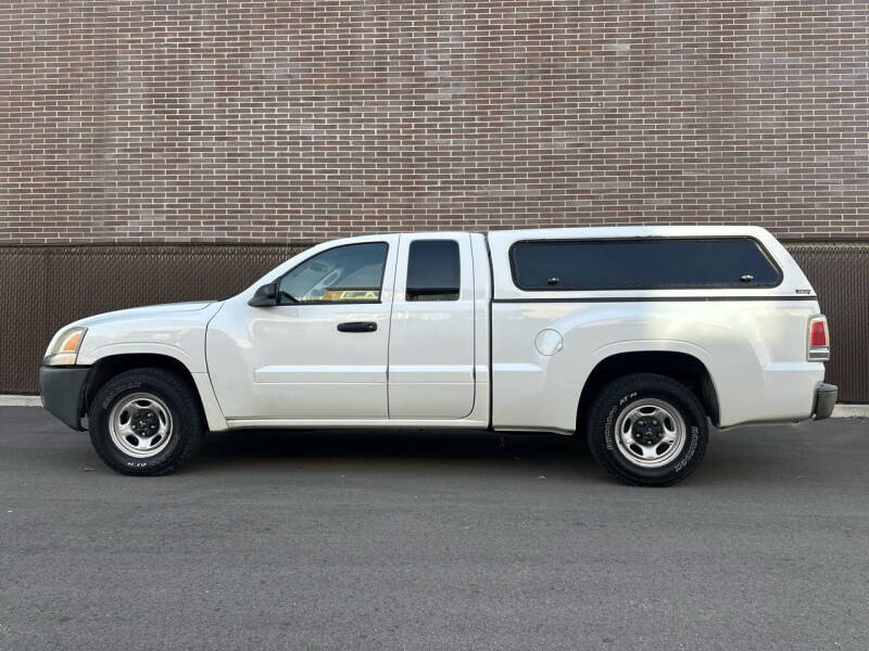
<path fill-rule="evenodd" d="M 0 649 L 869 648 L 869 421 L 715 433 L 658 489 L 496 443 L 213 434 L 133 478 L 0 408 Z"/>

